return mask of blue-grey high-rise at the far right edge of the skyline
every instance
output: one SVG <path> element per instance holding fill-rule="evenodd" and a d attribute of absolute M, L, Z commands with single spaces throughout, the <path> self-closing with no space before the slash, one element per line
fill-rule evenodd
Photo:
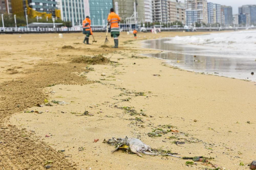
<path fill-rule="evenodd" d="M 246 14 L 249 17 L 248 24 L 256 24 L 256 5 L 243 5 L 238 8 L 239 14 Z"/>

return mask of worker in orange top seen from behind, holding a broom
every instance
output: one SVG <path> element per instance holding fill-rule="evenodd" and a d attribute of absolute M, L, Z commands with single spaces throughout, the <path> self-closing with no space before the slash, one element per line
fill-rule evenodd
<path fill-rule="evenodd" d="M 110 25 L 110 32 L 111 37 L 114 37 L 114 48 L 118 48 L 118 37 L 120 35 L 119 33 L 119 25 L 118 22 L 121 21 L 121 18 L 114 12 L 114 8 L 110 9 L 110 14 L 108 16 L 108 25 Z"/>

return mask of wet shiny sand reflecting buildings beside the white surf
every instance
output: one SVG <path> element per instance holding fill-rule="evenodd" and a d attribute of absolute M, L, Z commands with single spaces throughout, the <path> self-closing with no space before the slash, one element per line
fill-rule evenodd
<path fill-rule="evenodd" d="M 164 43 L 168 40 L 169 39 L 167 38 L 163 38 L 144 41 L 144 47 L 170 51 L 166 53 L 144 55 L 166 59 L 166 62 L 172 66 L 177 66 L 189 71 L 256 82 L 256 61 L 253 58 L 206 56 L 205 51 L 208 49 Z M 203 53 L 204 55 L 200 55 Z M 194 57 L 195 54 L 197 54 L 196 57 Z M 255 74 L 251 75 L 251 72 L 254 72 Z"/>

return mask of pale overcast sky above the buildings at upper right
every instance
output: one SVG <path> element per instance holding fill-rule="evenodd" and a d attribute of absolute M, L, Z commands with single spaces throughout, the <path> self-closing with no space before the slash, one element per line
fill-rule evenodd
<path fill-rule="evenodd" d="M 181 2 L 184 2 L 184 0 L 180 0 Z M 238 14 L 238 7 L 242 5 L 248 5 L 248 4 L 255 4 L 255 0 L 207 0 L 207 2 L 212 2 L 215 4 L 220 5 L 227 5 L 233 7 L 233 14 Z"/>

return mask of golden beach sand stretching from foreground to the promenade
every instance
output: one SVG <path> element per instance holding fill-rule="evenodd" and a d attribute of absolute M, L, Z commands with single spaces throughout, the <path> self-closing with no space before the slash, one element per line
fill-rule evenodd
<path fill-rule="evenodd" d="M 104 33 L 95 33 L 98 42 L 90 46 L 78 33 L 0 35 L 0 168 L 45 169 L 53 161 L 51 169 L 191 169 L 187 160 L 111 153 L 114 147 L 102 143 L 128 136 L 181 156 L 213 157 L 210 162 L 226 169 L 247 169 L 239 163 L 256 159 L 255 83 L 187 72 L 140 55 L 161 52 L 141 48 L 142 39 L 206 33 L 139 33 L 136 41 L 122 33 L 119 49 L 100 47 Z M 98 54 L 113 62 L 71 62 Z M 44 99 L 70 104 L 36 107 Z M 129 115 L 123 107 L 147 116 Z M 84 111 L 93 116 L 79 114 Z M 147 135 L 168 124 L 181 133 Z M 197 163 L 193 167 L 213 169 Z"/>

